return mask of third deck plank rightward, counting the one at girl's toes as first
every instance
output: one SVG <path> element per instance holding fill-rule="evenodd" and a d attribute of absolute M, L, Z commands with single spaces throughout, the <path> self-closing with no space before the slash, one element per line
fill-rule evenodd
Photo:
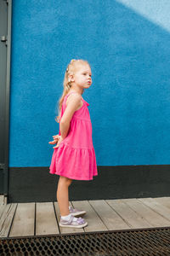
<path fill-rule="evenodd" d="M 133 229 L 150 228 L 151 225 L 134 212 L 123 200 L 106 200 L 106 202 L 119 214 L 124 222 Z"/>

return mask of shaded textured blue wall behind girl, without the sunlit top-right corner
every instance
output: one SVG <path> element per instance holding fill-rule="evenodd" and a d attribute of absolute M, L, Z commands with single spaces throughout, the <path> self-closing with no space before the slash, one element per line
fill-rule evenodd
<path fill-rule="evenodd" d="M 170 164 L 167 30 L 113 0 L 17 0 L 12 21 L 9 166 L 50 165 L 72 58 L 92 67 L 83 97 L 98 166 Z"/>

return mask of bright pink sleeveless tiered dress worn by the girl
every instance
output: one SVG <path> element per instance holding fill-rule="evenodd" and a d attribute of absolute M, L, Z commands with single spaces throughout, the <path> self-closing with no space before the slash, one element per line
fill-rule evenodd
<path fill-rule="evenodd" d="M 65 112 L 67 97 L 64 97 L 61 117 Z M 92 140 L 92 123 L 88 112 L 88 102 L 82 98 L 82 108 L 72 116 L 70 128 L 65 139 L 54 148 L 49 170 L 51 174 L 76 180 L 92 180 L 98 175 L 94 145 Z M 60 130 L 59 130 L 60 135 Z"/>

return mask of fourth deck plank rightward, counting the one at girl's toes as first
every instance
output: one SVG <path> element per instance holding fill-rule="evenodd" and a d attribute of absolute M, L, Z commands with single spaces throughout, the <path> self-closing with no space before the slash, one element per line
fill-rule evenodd
<path fill-rule="evenodd" d="M 123 199 L 126 204 L 143 217 L 152 227 L 168 226 L 168 221 L 162 218 L 161 215 L 154 212 L 150 207 L 145 206 L 141 201 L 135 198 Z"/>

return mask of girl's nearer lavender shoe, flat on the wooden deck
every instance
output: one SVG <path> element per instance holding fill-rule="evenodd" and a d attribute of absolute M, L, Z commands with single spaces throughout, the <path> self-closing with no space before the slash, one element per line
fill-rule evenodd
<path fill-rule="evenodd" d="M 86 227 L 88 225 L 88 222 L 85 221 L 84 218 L 75 218 L 71 215 L 71 218 L 69 220 L 65 220 L 62 217 L 59 221 L 60 227 L 66 227 L 66 228 L 77 228 L 81 229 L 83 227 Z"/>

